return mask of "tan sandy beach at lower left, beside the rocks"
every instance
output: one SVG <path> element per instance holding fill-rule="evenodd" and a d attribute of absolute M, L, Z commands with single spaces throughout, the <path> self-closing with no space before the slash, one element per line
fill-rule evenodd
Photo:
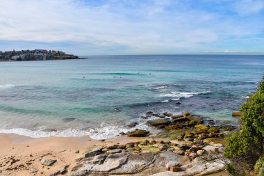
<path fill-rule="evenodd" d="M 75 159 L 92 145 L 113 145 L 129 143 L 139 138 L 125 136 L 93 140 L 83 137 L 48 137 L 30 138 L 17 134 L 0 134 L 0 175 L 50 175 L 54 170 L 69 165 L 68 170 L 76 165 Z M 53 166 L 43 166 L 41 159 L 56 159 Z M 34 172 L 38 170 L 38 172 Z"/>

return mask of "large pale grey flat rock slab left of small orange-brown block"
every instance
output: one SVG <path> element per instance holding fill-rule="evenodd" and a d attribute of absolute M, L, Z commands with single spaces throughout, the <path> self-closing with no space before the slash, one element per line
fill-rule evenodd
<path fill-rule="evenodd" d="M 118 153 L 110 154 L 101 163 L 83 159 L 72 169 L 71 176 L 138 175 L 145 176 L 166 170 L 170 161 L 189 164 L 186 156 L 174 152 Z"/>

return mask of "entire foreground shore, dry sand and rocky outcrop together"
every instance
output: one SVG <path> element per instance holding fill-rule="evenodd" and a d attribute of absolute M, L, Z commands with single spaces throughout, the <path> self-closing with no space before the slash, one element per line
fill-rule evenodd
<path fill-rule="evenodd" d="M 17 153 L 13 146 L 0 145 L 1 175 L 208 175 L 224 170 L 224 136 L 236 129 L 215 125 L 199 115 L 147 112 L 142 118 L 156 116 L 147 125 L 160 133 L 135 129 L 116 140 L 81 138 L 76 141 L 26 143 Z M 74 138 L 75 139 L 75 138 Z M 73 145 L 68 146 L 65 145 Z M 47 146 L 44 147 L 44 146 Z M 56 144 L 56 145 L 55 145 Z M 3 143 L 2 143 L 3 145 Z M 9 146 L 9 148 L 8 148 Z M 38 152 L 33 153 L 33 147 Z M 13 149 L 11 149 L 13 147 Z M 39 148 L 40 147 L 40 148 Z M 32 149 L 28 151 L 28 149 Z M 23 151 L 26 155 L 23 155 Z M 4 154 L 8 153 L 10 154 Z M 217 157 L 215 157 L 217 156 Z"/>

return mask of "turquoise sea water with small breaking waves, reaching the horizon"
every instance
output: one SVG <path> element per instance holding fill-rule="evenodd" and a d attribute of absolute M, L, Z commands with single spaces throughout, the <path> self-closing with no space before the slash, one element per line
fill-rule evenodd
<path fill-rule="evenodd" d="M 190 111 L 235 123 L 264 56 L 88 56 L 0 63 L 0 132 L 110 138 L 147 111 Z M 180 102 L 181 104 L 176 104 Z"/>

